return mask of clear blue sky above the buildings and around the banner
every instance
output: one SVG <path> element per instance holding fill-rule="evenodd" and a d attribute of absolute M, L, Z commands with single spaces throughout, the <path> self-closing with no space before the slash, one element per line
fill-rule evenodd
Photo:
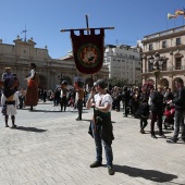
<path fill-rule="evenodd" d="M 145 35 L 182 26 L 185 18 L 168 20 L 166 14 L 185 8 L 185 0 L 0 0 L 0 38 L 13 44 L 27 28 L 36 48 L 48 46 L 53 59 L 72 49 L 70 33 L 62 28 L 114 26 L 106 30 L 104 44 L 135 46 Z"/>

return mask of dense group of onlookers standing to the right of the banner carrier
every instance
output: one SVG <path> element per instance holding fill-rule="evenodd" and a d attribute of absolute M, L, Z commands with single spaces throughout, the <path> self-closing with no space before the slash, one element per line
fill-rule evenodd
<path fill-rule="evenodd" d="M 157 138 L 155 132 L 155 123 L 159 128 L 159 136 L 165 138 L 162 124 L 166 128 L 168 125 L 173 125 L 174 136 L 168 143 L 176 143 L 180 133 L 180 125 L 182 125 L 181 140 L 185 141 L 185 87 L 184 82 L 178 78 L 175 82 L 176 90 L 171 91 L 169 87 L 158 86 L 153 87 L 113 87 L 110 90 L 112 96 L 112 109 L 120 112 L 121 104 L 123 104 L 123 114 L 127 118 L 128 114 L 140 119 L 140 133 L 145 134 L 145 127 L 150 119 L 150 134 L 152 138 Z"/>

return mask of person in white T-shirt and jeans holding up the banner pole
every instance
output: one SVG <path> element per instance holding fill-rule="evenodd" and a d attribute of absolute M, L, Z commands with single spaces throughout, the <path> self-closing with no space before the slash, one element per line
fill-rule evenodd
<path fill-rule="evenodd" d="M 102 165 L 102 144 L 104 147 L 108 173 L 114 174 L 113 170 L 113 152 L 112 152 L 112 140 L 113 126 L 111 123 L 111 109 L 112 109 L 112 97 L 106 94 L 106 84 L 103 79 L 99 79 L 95 85 L 96 90 L 90 91 L 89 99 L 87 100 L 86 108 L 90 109 L 94 107 L 94 118 L 90 122 L 89 134 L 95 139 L 96 145 L 96 161 L 90 164 L 90 168 L 98 168 Z M 96 91 L 98 94 L 96 94 Z"/>

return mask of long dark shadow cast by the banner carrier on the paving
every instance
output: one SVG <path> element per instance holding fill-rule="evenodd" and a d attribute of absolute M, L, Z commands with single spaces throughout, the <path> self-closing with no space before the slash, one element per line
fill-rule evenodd
<path fill-rule="evenodd" d="M 127 166 L 127 165 L 114 164 L 114 170 L 115 172 L 124 173 L 133 177 L 143 177 L 145 180 L 149 180 L 158 183 L 165 183 L 174 178 L 177 178 L 177 176 L 173 174 L 168 174 L 156 170 L 143 170 L 143 169 Z"/>

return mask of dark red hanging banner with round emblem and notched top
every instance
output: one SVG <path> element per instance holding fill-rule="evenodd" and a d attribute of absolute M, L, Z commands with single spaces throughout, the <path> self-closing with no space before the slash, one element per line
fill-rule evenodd
<path fill-rule="evenodd" d="M 95 34 L 94 28 L 89 30 L 89 35 L 84 35 L 84 29 L 79 29 L 79 36 L 71 30 L 73 58 L 77 70 L 84 74 L 97 73 L 103 63 L 104 29 L 100 29 L 100 34 Z"/>

